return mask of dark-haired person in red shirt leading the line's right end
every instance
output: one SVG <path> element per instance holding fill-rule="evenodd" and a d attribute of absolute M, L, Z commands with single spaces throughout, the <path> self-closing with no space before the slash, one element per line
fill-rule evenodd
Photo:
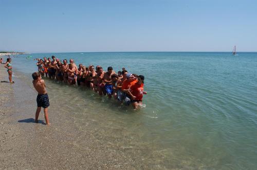
<path fill-rule="evenodd" d="M 144 91 L 144 76 L 137 76 L 137 82 L 130 87 L 131 90 L 131 102 L 134 109 L 138 109 L 142 105 L 143 94 L 147 94 Z"/>

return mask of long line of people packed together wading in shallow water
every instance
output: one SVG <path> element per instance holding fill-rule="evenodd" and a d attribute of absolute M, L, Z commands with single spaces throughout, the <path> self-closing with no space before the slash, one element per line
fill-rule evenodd
<path fill-rule="evenodd" d="M 109 99 L 113 96 L 126 105 L 132 103 L 135 109 L 142 105 L 143 94 L 147 94 L 143 91 L 144 76 L 129 73 L 125 68 L 116 74 L 112 67 L 108 67 L 106 72 L 101 66 L 86 67 L 80 63 L 77 67 L 73 59 L 70 59 L 69 63 L 67 59 L 62 62 L 55 56 L 36 60 L 38 72 L 42 77 L 87 87 L 100 96 L 107 95 Z"/>

